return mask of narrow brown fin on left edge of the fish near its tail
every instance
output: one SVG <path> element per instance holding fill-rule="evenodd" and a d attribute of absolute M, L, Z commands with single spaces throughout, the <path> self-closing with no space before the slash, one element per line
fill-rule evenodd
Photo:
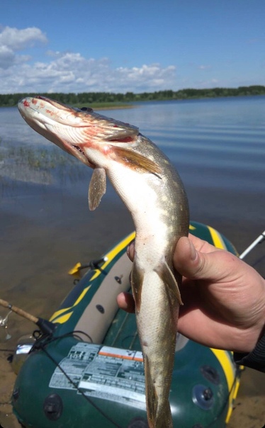
<path fill-rule="evenodd" d="M 145 390 L 147 391 L 147 419 L 150 427 L 156 427 L 157 422 L 157 406 L 158 406 L 158 397 L 157 391 L 154 387 L 154 381 L 152 380 L 150 364 L 148 356 L 145 355 Z"/>

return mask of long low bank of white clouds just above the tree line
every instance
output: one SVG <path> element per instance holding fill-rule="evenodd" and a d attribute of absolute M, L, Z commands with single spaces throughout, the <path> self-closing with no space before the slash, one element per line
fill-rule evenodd
<path fill-rule="evenodd" d="M 43 33 L 28 38 L 45 41 Z M 39 36 L 39 38 L 37 37 Z M 26 40 L 26 37 L 24 38 Z M 26 43 L 26 42 L 25 42 Z M 19 55 L 21 64 L 13 50 L 6 50 L 7 66 L 0 69 L 1 93 L 12 92 L 82 92 L 82 91 L 154 91 L 176 86 L 176 67 L 160 64 L 143 64 L 141 67 L 111 67 L 108 58 L 95 60 L 85 58 L 78 52 L 46 52 L 47 62 L 30 62 Z M 18 47 L 18 44 L 16 45 Z M 9 55 L 13 55 L 9 58 Z M 3 54 L 4 64 L 4 54 Z"/>

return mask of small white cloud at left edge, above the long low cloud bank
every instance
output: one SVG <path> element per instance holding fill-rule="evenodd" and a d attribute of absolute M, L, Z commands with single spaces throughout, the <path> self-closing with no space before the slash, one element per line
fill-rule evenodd
<path fill-rule="evenodd" d="M 39 28 L 0 27 L 0 69 L 7 69 L 13 64 L 30 60 L 28 55 L 16 52 L 33 47 L 36 43 L 47 43 L 45 34 Z"/>

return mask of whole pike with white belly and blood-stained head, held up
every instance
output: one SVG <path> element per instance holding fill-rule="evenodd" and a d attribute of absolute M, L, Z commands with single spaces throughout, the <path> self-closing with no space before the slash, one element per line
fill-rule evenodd
<path fill-rule="evenodd" d="M 23 98 L 21 116 L 33 130 L 94 169 L 89 208 L 106 193 L 106 176 L 135 225 L 131 285 L 145 366 L 150 428 L 173 427 L 169 394 L 174 368 L 181 275 L 173 254 L 188 235 L 188 199 L 176 169 L 157 145 L 128 123 L 91 108 L 72 108 L 45 98 Z"/>

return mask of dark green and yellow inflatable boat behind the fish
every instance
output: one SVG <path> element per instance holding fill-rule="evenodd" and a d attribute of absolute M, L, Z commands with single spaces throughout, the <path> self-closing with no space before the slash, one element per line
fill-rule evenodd
<path fill-rule="evenodd" d="M 236 254 L 212 227 L 191 223 L 190 232 Z M 134 236 L 86 265 L 47 328 L 33 333 L 33 343 L 18 344 L 13 364 L 26 361 L 17 369 L 12 403 L 22 427 L 148 427 L 135 315 L 116 303 L 118 293 L 130 289 L 126 249 Z M 78 264 L 72 274 L 79 276 L 83 267 Z M 239 368 L 230 352 L 178 334 L 169 397 L 174 427 L 225 427 L 238 387 Z"/>

